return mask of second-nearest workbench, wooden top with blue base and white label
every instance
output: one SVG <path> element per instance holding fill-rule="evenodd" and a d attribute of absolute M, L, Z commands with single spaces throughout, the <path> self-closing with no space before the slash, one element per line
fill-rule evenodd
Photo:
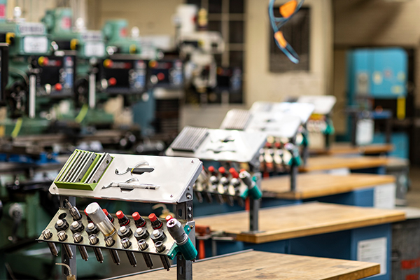
<path fill-rule="evenodd" d="M 260 209 L 260 232 L 246 232 L 246 211 L 197 218 L 196 224 L 207 225 L 213 232 L 223 232 L 223 236 L 232 238 L 211 245 L 207 242 L 206 251 L 217 244 L 218 254 L 254 248 L 360 260 L 363 248 L 372 246 L 373 251 L 379 252 L 374 258 L 379 258 L 384 266 L 382 274 L 372 279 L 388 280 L 391 279 L 391 223 L 404 220 L 405 213 L 398 210 L 310 202 Z"/>

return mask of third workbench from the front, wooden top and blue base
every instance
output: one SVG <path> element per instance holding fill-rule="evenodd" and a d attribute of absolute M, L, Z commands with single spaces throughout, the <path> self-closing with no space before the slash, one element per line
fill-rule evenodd
<path fill-rule="evenodd" d="M 263 196 L 274 197 L 279 204 L 317 200 L 361 207 L 393 208 L 395 205 L 395 176 L 308 173 L 299 174 L 296 180 L 296 190 L 292 191 L 288 176 L 263 179 Z M 276 200 L 270 201 L 269 205 L 275 204 Z"/>

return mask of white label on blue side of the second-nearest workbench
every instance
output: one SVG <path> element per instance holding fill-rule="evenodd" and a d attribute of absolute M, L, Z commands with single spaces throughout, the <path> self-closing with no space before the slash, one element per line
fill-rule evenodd
<path fill-rule="evenodd" d="M 376 262 L 381 265 L 381 272 L 386 274 L 386 237 L 358 241 L 357 260 L 360 262 Z"/>

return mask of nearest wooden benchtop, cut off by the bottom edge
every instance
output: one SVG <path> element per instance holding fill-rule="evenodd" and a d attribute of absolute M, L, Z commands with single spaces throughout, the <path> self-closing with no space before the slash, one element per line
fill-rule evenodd
<path fill-rule="evenodd" d="M 380 272 L 379 264 L 251 251 L 202 260 L 193 264 L 193 279 L 362 279 Z M 123 280 L 176 279 L 176 268 L 119 278 Z"/>

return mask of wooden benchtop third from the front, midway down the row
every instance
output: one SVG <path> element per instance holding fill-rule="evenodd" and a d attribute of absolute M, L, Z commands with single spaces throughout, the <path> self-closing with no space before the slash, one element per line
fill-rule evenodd
<path fill-rule="evenodd" d="M 394 183 L 395 176 L 377 174 L 299 174 L 296 178 L 296 190 L 290 191 L 290 176 L 262 179 L 262 192 L 267 197 L 285 200 L 305 200 L 325 195 L 348 193 L 352 190 L 372 188 L 386 183 Z"/>

